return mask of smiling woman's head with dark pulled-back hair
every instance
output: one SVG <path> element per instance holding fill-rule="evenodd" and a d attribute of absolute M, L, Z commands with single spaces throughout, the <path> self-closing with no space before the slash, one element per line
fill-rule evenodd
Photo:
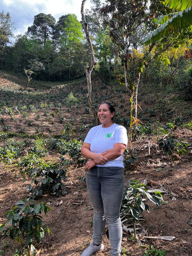
<path fill-rule="evenodd" d="M 109 127 L 113 124 L 112 117 L 115 115 L 115 112 L 111 113 L 109 106 L 104 103 L 99 106 L 98 117 L 99 121 L 102 124 L 102 127 Z"/>

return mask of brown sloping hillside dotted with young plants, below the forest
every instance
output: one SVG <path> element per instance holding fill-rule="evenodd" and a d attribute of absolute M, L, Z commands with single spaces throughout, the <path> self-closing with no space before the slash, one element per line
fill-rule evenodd
<path fill-rule="evenodd" d="M 1 152 L 5 146 L 13 147 L 13 141 L 25 141 L 20 155 L 13 154 L 15 148 L 12 154 L 7 151 L 4 161 L 0 164 L 2 225 L 7 219 L 4 214 L 28 194 L 26 187 L 30 180 L 23 182 L 19 171 L 12 171 L 17 168 L 19 159 L 28 155 L 32 148 L 35 150 L 38 141 L 45 150 L 42 152 L 47 153 L 42 158 L 46 162 L 51 159 L 58 162 L 61 154 L 54 142 L 59 143 L 61 137 L 83 141 L 85 134 L 94 125 L 94 119 L 87 106 L 84 79 L 66 84 L 33 81 L 30 87 L 25 89 L 24 78 L 1 73 L 0 93 Z M 137 159 L 126 165 L 125 181 L 138 180 L 140 183 L 145 182 L 149 190 L 161 190 L 164 202 L 161 207 L 148 202 L 150 213 L 143 212 L 142 220 L 138 221 L 141 225 L 138 225 L 138 234 L 145 234 L 145 237 L 140 237 L 142 245 L 137 245 L 132 234 L 124 234 L 122 255 L 144 256 L 145 250 L 151 249 L 151 246 L 154 246 L 156 252 L 166 251 L 166 254 L 162 252 L 156 255 L 192 255 L 191 103 L 181 101 L 176 93 L 163 93 L 161 89 L 154 92 L 151 88 L 146 93 L 144 86 L 140 89 L 139 104 L 142 111 L 139 118 L 142 126 L 135 132 L 137 140 L 132 141 L 125 154 L 127 161 L 132 156 Z M 115 89 L 114 85 L 105 85 L 94 77 L 93 102 L 96 106 L 102 101 L 114 103 L 118 110 L 116 122 L 125 127 L 129 125 L 130 104 L 126 90 Z M 162 102 L 162 105 L 157 105 L 157 102 Z M 163 122 L 155 122 L 159 118 Z M 173 124 L 173 120 L 177 123 Z M 186 154 L 179 155 L 172 150 L 169 155 L 159 148 L 158 139 L 165 137 L 166 140 L 169 138 L 168 133 L 174 134 L 176 141 L 188 142 Z M 64 157 L 70 158 L 68 154 L 64 154 Z M 37 197 L 36 202 L 43 201 L 51 208 L 50 212 L 43 215 L 43 222 L 49 226 L 50 235 L 46 233 L 41 243 L 35 245 L 37 255 L 80 256 L 92 241 L 93 209 L 83 177 L 84 167 L 79 164 L 71 165 L 66 174 L 65 196 L 45 194 Z M 166 241 L 151 238 L 156 236 L 174 236 L 174 239 Z M 27 255 L 26 252 L 17 254 L 17 242 L 8 242 L 9 240 L 1 238 L 0 255 Z M 109 256 L 110 246 L 106 233 L 103 236 L 103 244 L 105 249 L 97 255 Z M 155 254 L 151 252 L 150 255 Z"/>

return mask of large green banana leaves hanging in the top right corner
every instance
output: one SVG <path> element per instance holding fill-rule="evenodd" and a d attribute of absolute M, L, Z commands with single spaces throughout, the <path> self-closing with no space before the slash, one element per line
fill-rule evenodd
<path fill-rule="evenodd" d="M 154 19 L 161 26 L 142 39 L 142 44 L 154 43 L 164 36 L 170 35 L 175 30 L 192 25 L 191 0 L 166 0 L 165 5 L 173 9 L 174 12 Z"/>

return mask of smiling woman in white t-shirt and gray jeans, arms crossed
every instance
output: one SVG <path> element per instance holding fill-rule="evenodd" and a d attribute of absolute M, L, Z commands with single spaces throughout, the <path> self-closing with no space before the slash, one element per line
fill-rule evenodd
<path fill-rule="evenodd" d="M 127 146 L 125 127 L 113 123 L 115 108 L 103 102 L 98 109 L 101 125 L 93 127 L 82 146 L 86 162 L 86 184 L 94 208 L 93 242 L 82 256 L 104 249 L 102 234 L 107 221 L 111 256 L 120 256 L 122 223 L 119 218 L 124 193 L 123 153 Z"/>

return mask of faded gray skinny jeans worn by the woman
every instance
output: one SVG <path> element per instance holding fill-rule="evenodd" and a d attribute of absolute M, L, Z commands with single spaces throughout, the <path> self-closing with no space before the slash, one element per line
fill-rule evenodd
<path fill-rule="evenodd" d="M 93 243 L 102 242 L 102 234 L 107 221 L 110 254 L 120 256 L 122 223 L 119 211 L 124 193 L 124 169 L 94 166 L 86 174 L 86 184 L 94 208 Z"/>

